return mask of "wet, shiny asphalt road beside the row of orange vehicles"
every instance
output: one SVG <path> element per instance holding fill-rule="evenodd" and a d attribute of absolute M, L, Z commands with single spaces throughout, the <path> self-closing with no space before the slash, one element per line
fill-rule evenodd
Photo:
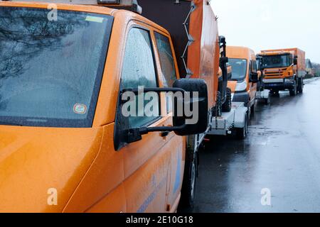
<path fill-rule="evenodd" d="M 193 212 L 320 212 L 320 80 L 306 83 L 258 104 L 246 140 L 206 143 Z"/>

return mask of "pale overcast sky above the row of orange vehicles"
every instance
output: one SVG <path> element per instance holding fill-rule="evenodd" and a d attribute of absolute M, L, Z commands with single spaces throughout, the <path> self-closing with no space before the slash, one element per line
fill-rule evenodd
<path fill-rule="evenodd" d="M 320 63 L 319 0 L 212 0 L 211 5 L 228 45 L 255 52 L 300 48 Z"/>

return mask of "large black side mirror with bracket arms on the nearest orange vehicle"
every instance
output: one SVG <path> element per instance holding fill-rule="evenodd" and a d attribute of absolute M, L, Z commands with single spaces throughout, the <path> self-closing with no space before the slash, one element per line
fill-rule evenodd
<path fill-rule="evenodd" d="M 119 150 L 129 143 L 142 140 L 142 135 L 150 132 L 171 132 L 176 135 L 194 135 L 204 133 L 208 128 L 208 88 L 203 79 L 178 79 L 172 88 L 145 88 L 143 93 L 166 92 L 172 100 L 173 126 L 130 128 L 129 118 L 122 114 L 126 103 L 122 96 L 127 92 L 141 94 L 139 88 L 125 89 L 118 101 L 116 122 L 114 125 L 114 150 Z M 126 94 L 126 96 L 128 96 Z"/>

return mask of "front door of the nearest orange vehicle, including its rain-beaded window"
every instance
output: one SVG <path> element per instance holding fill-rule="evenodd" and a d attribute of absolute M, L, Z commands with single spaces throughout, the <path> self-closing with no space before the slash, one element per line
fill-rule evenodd
<path fill-rule="evenodd" d="M 159 87 L 154 41 L 149 26 L 133 24 L 127 34 L 122 66 L 122 89 Z M 136 100 L 146 96 L 136 96 Z M 147 114 L 148 101 L 137 104 L 136 116 L 129 116 L 129 127 L 165 126 L 171 121 L 164 113 L 165 99 L 155 101 L 158 114 Z M 124 153 L 124 191 L 127 212 L 164 212 L 171 172 L 171 150 L 182 151 L 182 138 L 173 133 L 149 133 L 128 145 Z"/>

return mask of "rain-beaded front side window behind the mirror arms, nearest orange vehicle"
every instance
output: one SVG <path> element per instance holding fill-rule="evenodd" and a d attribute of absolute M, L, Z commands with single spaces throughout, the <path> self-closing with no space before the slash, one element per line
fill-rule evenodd
<path fill-rule="evenodd" d="M 122 89 L 158 87 L 157 84 L 150 33 L 141 28 L 132 28 L 129 31 L 124 53 Z M 129 126 L 131 128 L 146 126 L 159 117 L 159 99 L 148 99 L 150 100 L 146 100 L 144 95 L 135 96 L 134 104 L 130 105 L 131 107 L 128 109 L 130 113 L 134 113 L 129 114 Z M 139 104 L 140 100 L 144 105 Z M 156 104 L 154 109 L 152 106 L 150 108 L 149 105 L 148 110 L 151 109 L 152 116 L 150 116 L 150 113 L 146 113 L 145 108 L 150 101 Z"/>

